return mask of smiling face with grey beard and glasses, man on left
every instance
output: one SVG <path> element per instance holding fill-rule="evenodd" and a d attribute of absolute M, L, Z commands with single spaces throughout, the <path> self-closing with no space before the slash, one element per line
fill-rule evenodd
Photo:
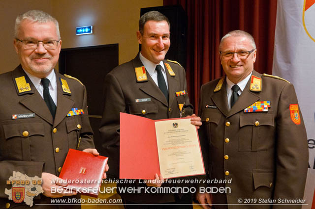
<path fill-rule="evenodd" d="M 33 41 L 59 40 L 54 22 L 38 23 L 28 19 L 21 22 L 16 38 Z M 55 50 L 46 50 L 42 42 L 38 43 L 37 49 L 26 50 L 23 43 L 17 40 L 14 40 L 14 47 L 24 70 L 38 78 L 46 78 L 58 62 L 61 42 L 60 40 Z"/>

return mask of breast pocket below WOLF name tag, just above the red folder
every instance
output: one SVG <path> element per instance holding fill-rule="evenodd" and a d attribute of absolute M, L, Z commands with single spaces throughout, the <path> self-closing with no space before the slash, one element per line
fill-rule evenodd
<path fill-rule="evenodd" d="M 129 113 L 147 117 L 148 114 L 158 113 L 158 104 L 155 101 L 128 103 Z"/>

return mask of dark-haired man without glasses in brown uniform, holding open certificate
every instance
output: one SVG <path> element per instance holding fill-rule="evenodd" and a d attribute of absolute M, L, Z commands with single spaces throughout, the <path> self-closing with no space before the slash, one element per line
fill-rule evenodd
<path fill-rule="evenodd" d="M 119 178 L 120 112 L 150 119 L 186 117 L 192 114 L 192 105 L 187 94 L 185 69 L 177 62 L 165 60 L 170 47 L 170 24 L 157 11 L 144 14 L 139 20 L 137 38 L 141 52 L 137 56 L 113 69 L 105 79 L 105 106 L 100 133 L 103 147 L 114 177 Z M 177 93 L 177 94 L 176 94 Z M 191 123 L 201 125 L 200 118 L 191 117 Z M 146 129 L 146 127 L 139 127 Z M 150 160 L 150 159 L 146 159 Z M 154 175 L 154 174 L 153 174 Z M 156 179 L 162 179 L 156 174 Z M 148 186 L 161 186 L 149 183 Z M 141 184 L 118 184 L 124 186 L 147 186 Z M 178 184 L 177 186 L 183 186 Z M 162 186 L 175 186 L 164 183 Z M 185 185 L 187 186 L 187 185 Z M 119 192 L 119 189 L 117 189 Z M 143 190 L 142 190 L 143 191 Z M 148 208 L 133 204 L 191 204 L 190 194 L 120 193 L 125 208 Z M 151 206 L 153 208 L 192 208 L 187 206 Z"/>

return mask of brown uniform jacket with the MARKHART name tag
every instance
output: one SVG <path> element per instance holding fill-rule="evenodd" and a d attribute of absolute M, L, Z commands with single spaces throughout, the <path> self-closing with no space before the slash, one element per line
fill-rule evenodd
<path fill-rule="evenodd" d="M 14 80 L 22 76 L 29 82 L 31 91 L 19 94 Z M 11 188 L 5 183 L 13 171 L 29 177 L 41 177 L 42 172 L 59 176 L 69 148 L 94 148 L 85 86 L 57 72 L 56 78 L 57 110 L 53 119 L 47 104 L 21 65 L 0 75 L 0 208 L 4 208 L 6 203 L 10 204 L 10 208 L 29 208 L 25 203 L 9 201 L 4 193 L 4 188 Z M 71 94 L 63 92 L 60 78 L 67 81 Z M 66 117 L 71 108 L 83 109 L 85 114 Z M 35 113 L 35 117 L 12 119 L 13 114 L 24 113 Z M 28 131 L 27 136 L 23 134 L 25 131 Z M 34 198 L 32 208 L 48 208 L 35 205 L 43 203 L 51 204 L 49 198 L 39 195 Z"/>

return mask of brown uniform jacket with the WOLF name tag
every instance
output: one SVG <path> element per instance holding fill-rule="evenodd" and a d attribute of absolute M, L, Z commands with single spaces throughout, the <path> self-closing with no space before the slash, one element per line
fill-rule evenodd
<path fill-rule="evenodd" d="M 160 91 L 154 80 L 147 74 L 148 80 L 138 82 L 135 68 L 143 66 L 139 54 L 131 61 L 113 69 L 105 78 L 105 104 L 99 129 L 105 153 L 109 157 L 109 174 L 119 178 L 119 146 L 120 146 L 120 112 L 147 117 L 153 120 L 178 118 L 178 104 L 184 104 L 183 117 L 192 114 L 192 105 L 188 95 L 176 97 L 176 92 L 187 92 L 185 69 L 179 64 L 164 60 L 173 69 L 175 76 L 171 77 L 166 67 L 169 101 Z M 136 102 L 136 99 L 147 99 L 148 102 Z M 145 110 L 145 112 L 143 111 Z M 142 128 L 139 127 L 139 131 Z M 154 175 L 154 174 L 153 174 Z M 134 186 L 134 185 L 133 185 Z M 143 185 L 145 186 L 145 184 Z M 127 200 L 138 203 L 174 202 L 174 195 L 122 195 Z"/>

